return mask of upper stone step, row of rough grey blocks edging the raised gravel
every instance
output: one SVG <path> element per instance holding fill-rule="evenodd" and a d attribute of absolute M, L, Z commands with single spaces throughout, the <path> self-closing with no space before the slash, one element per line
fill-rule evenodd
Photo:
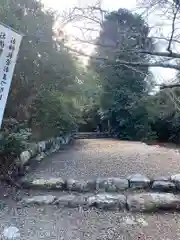
<path fill-rule="evenodd" d="M 180 174 L 171 177 L 156 177 L 150 179 L 142 174 L 133 174 L 127 178 L 97 178 L 90 180 L 75 180 L 62 178 L 22 178 L 23 188 L 52 189 L 75 192 L 124 192 L 146 190 L 158 192 L 180 192 Z"/>

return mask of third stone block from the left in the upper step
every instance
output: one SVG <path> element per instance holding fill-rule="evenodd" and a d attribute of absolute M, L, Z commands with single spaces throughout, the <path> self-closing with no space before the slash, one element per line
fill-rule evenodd
<path fill-rule="evenodd" d="M 97 179 L 96 190 L 105 192 L 118 192 L 126 190 L 129 187 L 129 182 L 127 179 L 122 178 L 104 178 Z"/>

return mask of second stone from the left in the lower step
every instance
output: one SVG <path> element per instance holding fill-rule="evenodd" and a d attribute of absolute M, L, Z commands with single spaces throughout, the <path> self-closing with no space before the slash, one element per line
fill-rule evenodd
<path fill-rule="evenodd" d="M 71 208 L 83 207 L 87 206 L 87 198 L 85 196 L 70 194 L 59 197 L 54 204 Z"/>

